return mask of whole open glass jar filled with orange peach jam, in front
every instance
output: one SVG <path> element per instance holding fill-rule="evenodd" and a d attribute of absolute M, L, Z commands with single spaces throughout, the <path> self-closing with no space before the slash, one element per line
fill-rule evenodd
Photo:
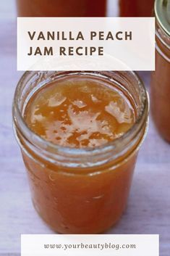
<path fill-rule="evenodd" d="M 121 218 L 148 127 L 135 73 L 26 72 L 13 120 L 33 205 L 48 226 L 98 234 Z"/>

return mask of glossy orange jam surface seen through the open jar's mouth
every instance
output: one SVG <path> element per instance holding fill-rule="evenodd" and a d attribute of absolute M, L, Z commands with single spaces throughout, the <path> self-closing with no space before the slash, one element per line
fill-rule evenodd
<path fill-rule="evenodd" d="M 113 141 L 135 123 L 135 110 L 118 88 L 93 79 L 59 80 L 35 93 L 25 109 L 32 131 L 54 144 L 94 147 Z"/>

